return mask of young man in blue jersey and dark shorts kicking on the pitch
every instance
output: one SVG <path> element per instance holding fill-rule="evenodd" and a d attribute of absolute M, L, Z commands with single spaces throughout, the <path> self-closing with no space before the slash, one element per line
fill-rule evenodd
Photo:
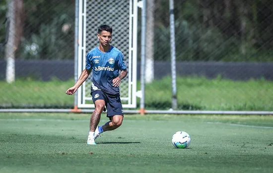
<path fill-rule="evenodd" d="M 98 28 L 99 46 L 86 55 L 86 66 L 78 81 L 66 93 L 72 95 L 88 78 L 92 71 L 91 95 L 95 110 L 90 117 L 90 130 L 87 144 L 95 145 L 95 139 L 100 133 L 115 130 L 123 121 L 123 108 L 120 99 L 120 82 L 127 76 L 122 52 L 110 45 L 112 28 L 101 25 Z M 120 74 L 119 74 L 119 71 Z M 107 117 L 110 121 L 104 126 L 98 126 L 102 111 L 107 107 Z"/>

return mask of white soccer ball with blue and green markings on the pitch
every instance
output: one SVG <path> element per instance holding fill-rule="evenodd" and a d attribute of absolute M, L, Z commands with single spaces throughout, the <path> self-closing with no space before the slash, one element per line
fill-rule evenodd
<path fill-rule="evenodd" d="M 172 144 L 175 148 L 188 148 L 191 143 L 191 136 L 185 131 L 177 131 L 172 137 Z"/>

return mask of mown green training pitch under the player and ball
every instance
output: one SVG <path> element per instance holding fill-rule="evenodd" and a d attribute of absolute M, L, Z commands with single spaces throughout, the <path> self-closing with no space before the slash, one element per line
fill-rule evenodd
<path fill-rule="evenodd" d="M 125 115 L 95 146 L 89 116 L 0 113 L 0 173 L 273 172 L 273 116 Z M 179 130 L 189 149 L 172 146 Z"/>

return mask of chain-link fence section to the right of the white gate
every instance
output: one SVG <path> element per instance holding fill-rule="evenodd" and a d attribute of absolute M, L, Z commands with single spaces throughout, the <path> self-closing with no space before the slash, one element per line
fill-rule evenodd
<path fill-rule="evenodd" d="M 273 2 L 174 0 L 179 110 L 273 110 Z M 172 107 L 168 0 L 147 0 L 146 109 Z"/>

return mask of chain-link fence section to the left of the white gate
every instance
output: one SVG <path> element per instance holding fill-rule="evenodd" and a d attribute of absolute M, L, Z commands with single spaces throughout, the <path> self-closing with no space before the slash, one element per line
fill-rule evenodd
<path fill-rule="evenodd" d="M 0 108 L 72 107 L 74 0 L 2 0 L 0 14 Z"/>

